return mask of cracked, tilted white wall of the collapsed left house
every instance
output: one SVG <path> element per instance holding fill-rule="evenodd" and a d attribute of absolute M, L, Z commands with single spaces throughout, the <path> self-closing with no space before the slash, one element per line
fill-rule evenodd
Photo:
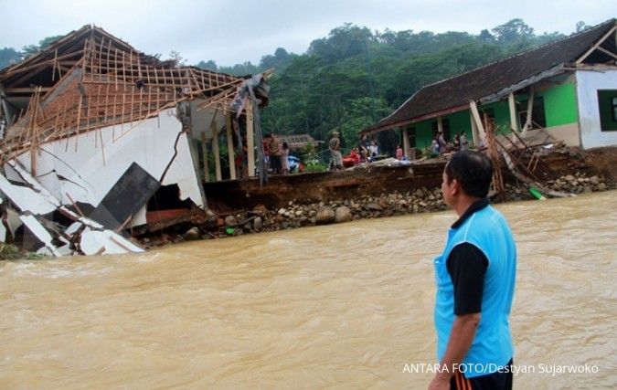
<path fill-rule="evenodd" d="M 134 128 L 129 131 L 132 125 Z M 172 109 L 149 120 L 48 142 L 37 155 L 37 179 L 64 205 L 71 204 L 68 193 L 75 201 L 96 207 L 133 162 L 160 180 L 172 161 L 176 137 L 181 131 L 176 110 Z M 20 155 L 19 161 L 30 171 L 30 153 Z M 203 206 L 186 133 L 178 140 L 176 158 L 162 184 L 178 184 L 182 199 L 190 197 L 197 206 Z"/>

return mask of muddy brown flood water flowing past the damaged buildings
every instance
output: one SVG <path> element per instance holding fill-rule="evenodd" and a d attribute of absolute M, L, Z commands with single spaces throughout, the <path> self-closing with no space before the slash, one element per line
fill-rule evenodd
<path fill-rule="evenodd" d="M 498 208 L 519 253 L 515 363 L 536 371 L 515 386 L 615 388 L 617 193 Z M 431 264 L 455 219 L 0 262 L 0 388 L 426 388 L 405 364 L 434 362 Z"/>

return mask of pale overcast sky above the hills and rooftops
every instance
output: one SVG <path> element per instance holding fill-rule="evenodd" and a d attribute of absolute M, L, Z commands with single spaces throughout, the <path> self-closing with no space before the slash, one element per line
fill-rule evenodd
<path fill-rule="evenodd" d="M 537 34 L 569 34 L 580 20 L 617 16 L 617 1 L 516 0 L 0 0 L 0 48 L 37 44 L 87 24 L 101 26 L 147 54 L 180 52 L 188 64 L 251 61 L 277 47 L 301 54 L 345 23 L 373 31 L 468 31 L 478 34 L 519 17 Z"/>

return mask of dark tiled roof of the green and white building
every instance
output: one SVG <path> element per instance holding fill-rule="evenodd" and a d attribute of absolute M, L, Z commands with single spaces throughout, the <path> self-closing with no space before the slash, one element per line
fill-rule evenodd
<path fill-rule="evenodd" d="M 431 84 L 411 96 L 397 111 L 364 132 L 388 130 L 437 115 L 460 111 L 469 105 L 470 100 L 497 96 L 501 90 L 523 80 L 576 61 L 603 37 L 610 35 L 614 29 L 615 19 L 611 19 L 570 37 Z M 601 46 L 612 53 L 617 52 L 614 39 L 605 39 Z M 614 58 L 598 51 L 588 60 L 592 63 L 602 63 L 614 61 Z"/>

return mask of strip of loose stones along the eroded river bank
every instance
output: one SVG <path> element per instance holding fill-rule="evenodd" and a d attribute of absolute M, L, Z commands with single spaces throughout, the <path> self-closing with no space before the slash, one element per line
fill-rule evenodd
<path fill-rule="evenodd" d="M 543 184 L 553 191 L 570 195 L 617 189 L 617 184 L 602 174 L 588 176 L 580 171 L 559 176 Z M 506 183 L 505 199 L 496 199 L 495 196 L 493 198 L 499 203 L 536 199 L 522 183 Z M 160 234 L 139 238 L 139 244 L 144 248 L 154 248 L 198 239 L 235 237 L 385 216 L 431 213 L 446 208 L 441 197 L 441 187 L 420 187 L 411 192 L 395 190 L 380 195 L 360 195 L 310 203 L 292 200 L 285 206 L 258 205 L 250 210 L 221 213 L 216 220 L 210 220 L 198 227 L 172 227 Z"/>

